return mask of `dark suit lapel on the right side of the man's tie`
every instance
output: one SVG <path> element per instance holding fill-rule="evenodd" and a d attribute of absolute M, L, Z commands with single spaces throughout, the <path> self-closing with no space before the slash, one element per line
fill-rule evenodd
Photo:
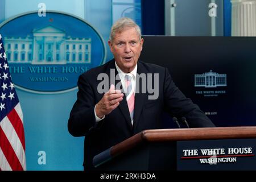
<path fill-rule="evenodd" d="M 141 63 L 138 61 L 137 67 L 137 74 L 140 75 L 141 73 L 145 73 L 147 76 L 147 70 L 143 67 Z M 138 75 L 136 76 L 136 80 L 138 80 Z M 134 120 L 133 120 L 133 131 L 136 131 L 136 127 L 138 126 L 139 117 L 141 116 L 143 104 L 146 100 L 148 93 L 142 93 L 142 81 L 139 81 L 139 88 L 136 86 L 136 93 L 135 93 L 135 106 L 134 106 Z"/>

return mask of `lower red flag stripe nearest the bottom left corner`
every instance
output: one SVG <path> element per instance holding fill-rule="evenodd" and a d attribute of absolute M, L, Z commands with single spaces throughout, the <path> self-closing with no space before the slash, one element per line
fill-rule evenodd
<path fill-rule="evenodd" d="M 3 122 L 4 121 L 2 121 L 1 124 Z M 22 170 L 22 166 L 19 162 L 19 159 L 17 158 L 17 156 L 13 150 L 13 147 L 11 147 L 9 140 L 6 138 L 6 135 L 3 132 L 1 126 L 0 126 L 0 147 L 2 148 L 3 155 L 5 155 L 8 163 L 12 164 L 11 169 L 12 170 Z M 6 168 L 3 168 L 3 170 L 6 170 Z"/>

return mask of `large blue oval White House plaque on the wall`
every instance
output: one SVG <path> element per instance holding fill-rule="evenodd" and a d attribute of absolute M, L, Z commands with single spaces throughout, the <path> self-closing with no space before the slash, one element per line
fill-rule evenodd
<path fill-rule="evenodd" d="M 75 89 L 81 73 L 105 62 L 101 35 L 84 20 L 47 11 L 22 14 L 0 24 L 15 85 L 36 93 Z"/>

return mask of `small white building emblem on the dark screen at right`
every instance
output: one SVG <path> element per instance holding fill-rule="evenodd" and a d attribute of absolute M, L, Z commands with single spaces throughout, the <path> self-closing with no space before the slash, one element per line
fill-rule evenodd
<path fill-rule="evenodd" d="M 204 86 L 205 88 L 226 86 L 226 74 L 218 74 L 212 70 L 208 73 L 196 74 L 195 86 Z"/>

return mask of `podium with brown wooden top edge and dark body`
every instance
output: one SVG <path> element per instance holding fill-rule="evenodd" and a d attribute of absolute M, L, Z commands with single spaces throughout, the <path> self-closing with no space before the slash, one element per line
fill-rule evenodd
<path fill-rule="evenodd" d="M 220 143 L 220 141 L 223 140 L 230 144 L 237 140 L 239 145 L 243 143 L 241 139 L 246 140 L 254 138 L 256 138 L 255 126 L 144 130 L 96 155 L 93 159 L 93 164 L 100 170 L 111 171 L 177 170 L 177 160 L 180 160 L 180 158 L 177 159 L 177 156 L 181 155 L 177 154 L 177 142 L 179 141 L 189 140 L 190 142 L 194 142 L 192 146 L 194 146 L 197 141 L 200 141 L 201 144 L 203 141 L 202 147 L 204 148 L 204 143 L 209 143 L 208 141 Z M 224 143 L 223 146 L 225 145 Z M 223 149 L 222 155 L 217 155 L 217 158 L 222 156 L 225 156 L 225 158 L 227 156 L 236 156 L 242 157 L 241 160 L 246 159 L 247 163 L 250 163 L 250 161 L 255 160 L 254 149 L 256 150 L 256 146 L 251 149 L 252 152 L 250 156 L 249 154 L 223 155 Z M 181 152 L 182 151 L 183 149 L 181 148 Z M 229 149 L 229 151 L 232 150 Z M 248 156 L 253 158 L 248 158 Z M 192 156 L 191 158 L 203 157 L 204 156 Z M 205 156 L 205 158 L 208 159 L 209 156 Z M 228 165 L 229 164 L 225 164 L 224 169 Z M 241 164 L 239 165 L 241 166 Z M 182 167 L 180 169 L 182 169 Z"/>

